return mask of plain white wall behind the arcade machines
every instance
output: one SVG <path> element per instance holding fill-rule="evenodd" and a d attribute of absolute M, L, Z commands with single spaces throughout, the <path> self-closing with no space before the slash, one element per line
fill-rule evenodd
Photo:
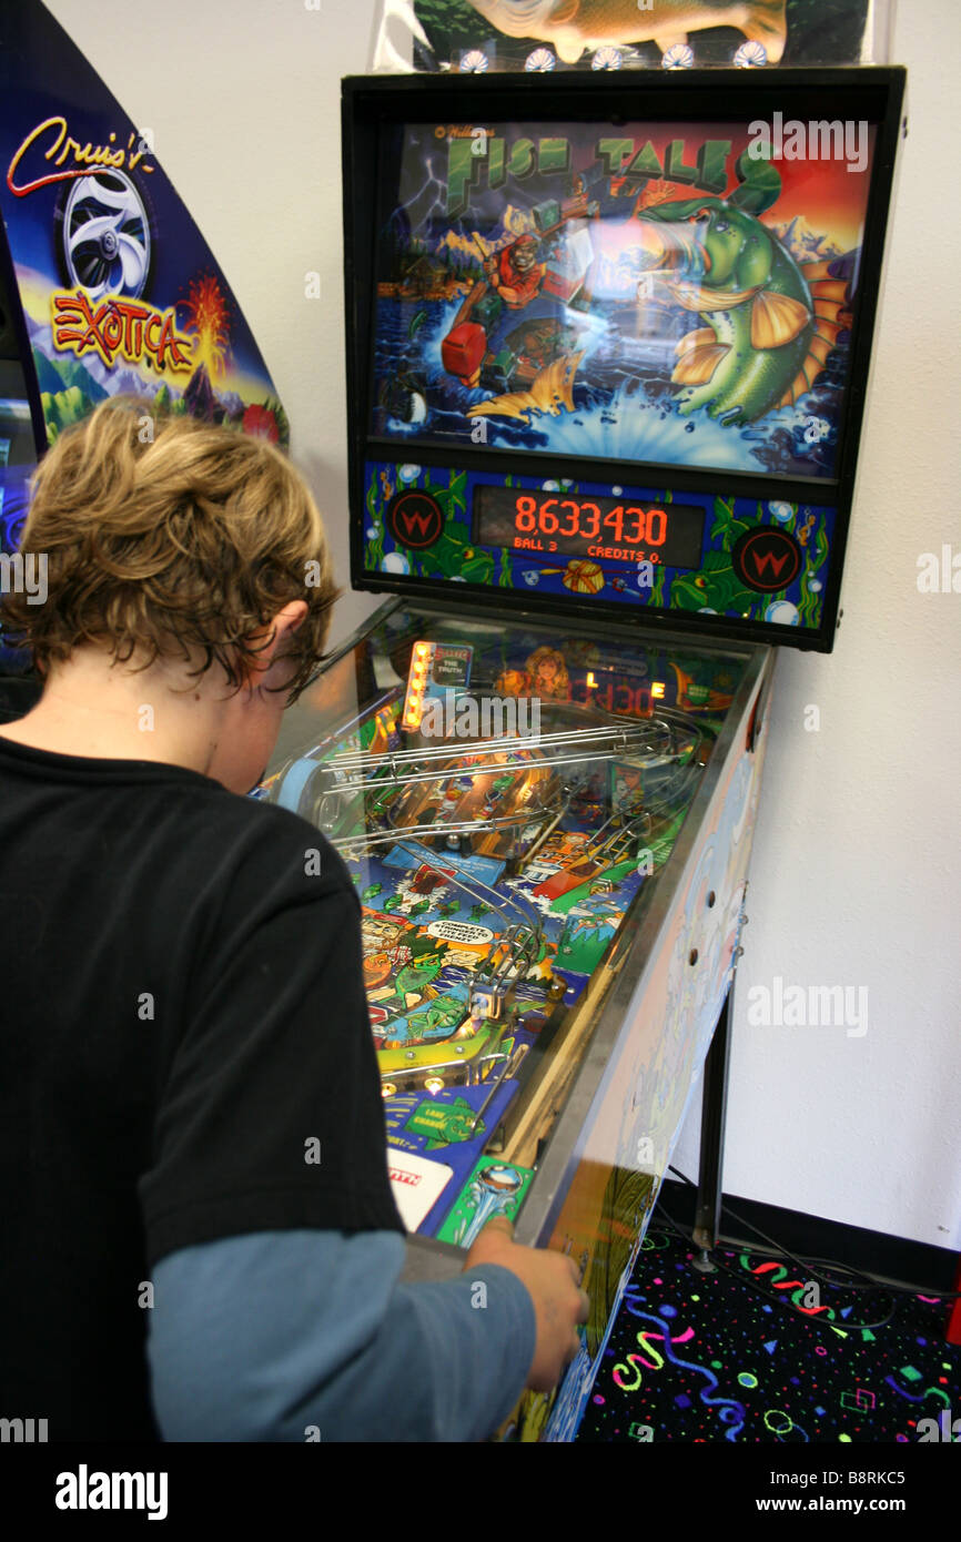
<path fill-rule="evenodd" d="M 373 0 L 49 0 L 222 264 L 287 407 L 349 583 L 339 91 Z M 901 0 L 910 71 L 887 291 L 831 657 L 785 652 L 734 1022 L 725 1189 L 961 1247 L 961 19 Z M 304 298 L 318 270 L 322 301 Z M 341 601 L 338 634 L 373 609 Z M 816 705 L 821 728 L 805 731 Z M 751 1027 L 748 992 L 867 988 L 868 1027 Z M 679 1164 L 694 1175 L 696 1119 Z"/>

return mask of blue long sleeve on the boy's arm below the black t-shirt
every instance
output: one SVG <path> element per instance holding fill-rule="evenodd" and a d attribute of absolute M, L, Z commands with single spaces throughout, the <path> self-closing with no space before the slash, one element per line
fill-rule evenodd
<path fill-rule="evenodd" d="M 398 1284 L 403 1263 L 396 1232 L 253 1232 L 164 1257 L 148 1325 L 164 1439 L 492 1434 L 534 1359 L 529 1292 L 498 1264 Z"/>

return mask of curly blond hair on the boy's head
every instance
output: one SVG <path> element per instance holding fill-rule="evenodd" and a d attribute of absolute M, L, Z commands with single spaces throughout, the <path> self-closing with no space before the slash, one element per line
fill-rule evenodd
<path fill-rule="evenodd" d="M 46 555 L 46 601 L 3 595 L 8 640 L 42 672 L 82 643 L 116 663 L 217 663 L 236 689 L 292 600 L 288 700 L 322 657 L 338 597 L 319 510 L 273 444 L 111 399 L 63 432 L 40 463 L 23 552 Z M 258 635 L 259 634 L 259 635 Z"/>

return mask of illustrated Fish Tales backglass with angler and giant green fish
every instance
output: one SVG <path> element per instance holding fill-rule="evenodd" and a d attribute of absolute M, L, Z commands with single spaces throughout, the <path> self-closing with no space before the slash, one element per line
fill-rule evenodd
<path fill-rule="evenodd" d="M 836 475 L 873 131 L 406 125 L 372 432 Z"/>

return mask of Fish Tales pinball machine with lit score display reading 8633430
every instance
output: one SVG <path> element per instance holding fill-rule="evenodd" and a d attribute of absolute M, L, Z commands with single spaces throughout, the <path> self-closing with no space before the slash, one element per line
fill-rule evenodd
<path fill-rule="evenodd" d="M 258 796 L 358 890 L 409 1275 L 494 1215 L 578 1263 L 515 1439 L 575 1433 L 705 1064 L 716 1223 L 774 660 L 835 643 L 902 89 L 344 83 L 352 581 L 387 600 Z"/>

